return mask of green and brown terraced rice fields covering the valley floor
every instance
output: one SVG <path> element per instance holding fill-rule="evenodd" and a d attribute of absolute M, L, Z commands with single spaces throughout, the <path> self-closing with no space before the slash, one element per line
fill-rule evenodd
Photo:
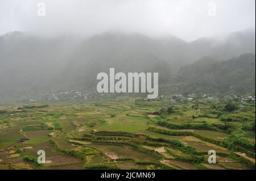
<path fill-rule="evenodd" d="M 0 106 L 0 169 L 255 169 L 255 104 L 227 104 L 117 96 Z"/>

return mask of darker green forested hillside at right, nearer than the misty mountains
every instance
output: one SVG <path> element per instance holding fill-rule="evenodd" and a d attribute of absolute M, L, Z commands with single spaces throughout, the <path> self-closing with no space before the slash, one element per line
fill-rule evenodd
<path fill-rule="evenodd" d="M 255 54 L 242 54 L 228 61 L 201 58 L 183 66 L 175 82 L 183 92 L 255 94 Z"/>

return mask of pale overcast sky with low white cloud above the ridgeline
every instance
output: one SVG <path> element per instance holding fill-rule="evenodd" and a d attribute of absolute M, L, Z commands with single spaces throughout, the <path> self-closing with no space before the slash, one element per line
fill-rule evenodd
<path fill-rule="evenodd" d="M 0 35 L 125 31 L 195 40 L 248 28 L 255 30 L 255 0 L 0 0 Z"/>

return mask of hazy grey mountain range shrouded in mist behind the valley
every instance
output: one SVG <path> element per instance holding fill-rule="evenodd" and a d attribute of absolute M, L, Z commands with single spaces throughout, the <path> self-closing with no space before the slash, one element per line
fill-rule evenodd
<path fill-rule="evenodd" d="M 161 85 L 177 83 L 183 85 L 180 86 L 183 91 L 202 91 L 204 86 L 197 89 L 196 83 L 201 85 L 208 80 L 208 84 L 214 85 L 213 92 L 230 90 L 230 86 L 232 92 L 239 91 L 241 85 L 237 87 L 237 81 L 230 82 L 232 73 L 224 75 L 226 70 L 236 69 L 238 74 L 247 71 L 244 75 L 249 81 L 247 85 L 254 83 L 250 90 L 255 92 L 255 78 L 248 78 L 250 73 L 255 77 L 253 54 L 255 31 L 249 30 L 189 42 L 175 36 L 153 38 L 139 33 L 105 32 L 85 38 L 10 32 L 0 37 L 0 100 L 29 99 L 70 89 L 88 91 L 95 87 L 96 90 L 96 75 L 101 71 L 108 72 L 109 68 L 124 73 L 158 72 Z M 240 64 L 244 57 L 246 62 Z M 230 64 L 223 63 L 224 60 L 229 60 Z M 232 67 L 233 61 L 237 62 L 236 68 Z M 204 64 L 207 66 L 203 70 L 201 66 Z M 254 69 L 243 69 L 243 66 L 253 64 Z M 225 70 L 218 71 L 224 65 Z M 226 76 L 224 82 L 230 83 L 218 87 L 220 82 L 204 79 L 205 74 L 208 78 L 213 74 L 219 79 Z M 184 85 L 194 88 L 188 89 Z M 205 91 L 210 91 L 208 86 Z"/>

